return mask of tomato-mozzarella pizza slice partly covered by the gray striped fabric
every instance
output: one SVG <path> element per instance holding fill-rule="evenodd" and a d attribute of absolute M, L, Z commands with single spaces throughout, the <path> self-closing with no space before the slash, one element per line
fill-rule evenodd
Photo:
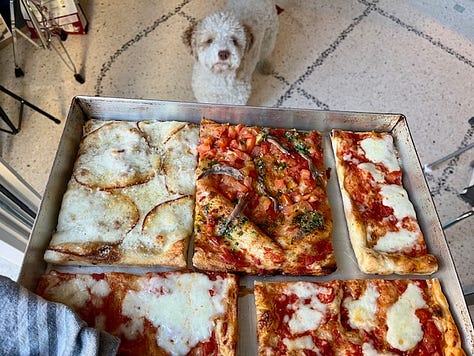
<path fill-rule="evenodd" d="M 119 337 L 120 355 L 236 354 L 238 281 L 231 274 L 51 271 L 37 293 Z"/>

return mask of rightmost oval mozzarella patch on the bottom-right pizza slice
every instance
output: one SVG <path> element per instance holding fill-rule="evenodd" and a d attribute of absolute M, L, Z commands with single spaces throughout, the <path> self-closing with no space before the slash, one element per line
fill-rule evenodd
<path fill-rule="evenodd" d="M 425 306 L 421 289 L 409 284 L 387 311 L 387 341 L 392 347 L 408 351 L 423 339 L 423 329 L 415 311 Z"/>

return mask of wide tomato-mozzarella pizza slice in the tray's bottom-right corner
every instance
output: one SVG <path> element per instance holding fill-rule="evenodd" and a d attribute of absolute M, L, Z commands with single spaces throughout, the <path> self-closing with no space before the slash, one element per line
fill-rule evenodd
<path fill-rule="evenodd" d="M 259 355 L 465 355 L 437 279 L 255 282 Z"/>

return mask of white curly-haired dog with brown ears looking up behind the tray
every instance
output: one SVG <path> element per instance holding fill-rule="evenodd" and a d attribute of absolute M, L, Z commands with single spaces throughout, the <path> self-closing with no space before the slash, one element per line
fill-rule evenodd
<path fill-rule="evenodd" d="M 199 102 L 245 105 L 252 91 L 252 75 L 275 46 L 277 7 L 273 0 L 230 0 L 190 26 L 183 35 L 196 61 L 192 88 Z M 259 65 L 260 67 L 260 65 Z"/>

